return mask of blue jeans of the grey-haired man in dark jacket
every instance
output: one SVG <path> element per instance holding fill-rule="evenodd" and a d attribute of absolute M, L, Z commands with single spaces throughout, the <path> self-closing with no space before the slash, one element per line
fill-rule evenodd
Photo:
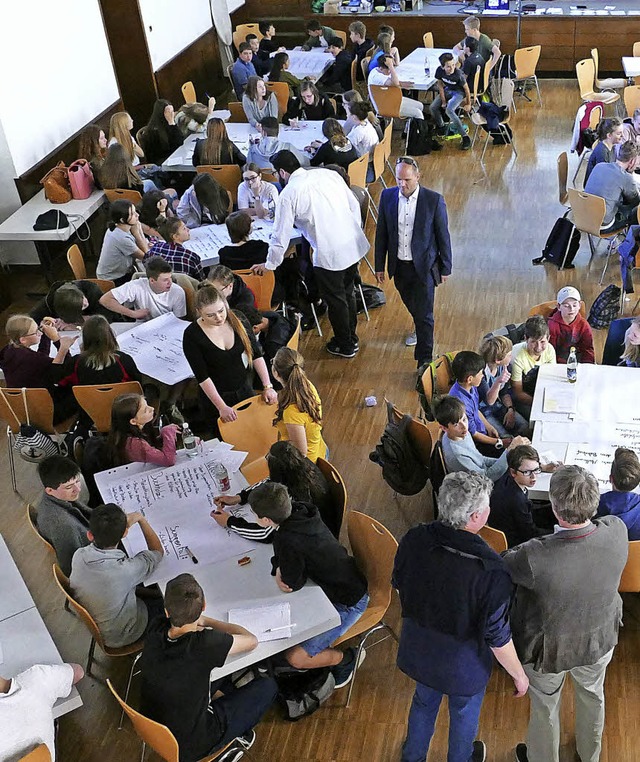
<path fill-rule="evenodd" d="M 402 747 L 402 762 L 424 762 L 429 751 L 443 693 L 416 683 L 409 711 L 407 737 Z M 448 696 L 449 753 L 447 762 L 469 762 L 478 732 L 484 688 L 474 696 Z"/>

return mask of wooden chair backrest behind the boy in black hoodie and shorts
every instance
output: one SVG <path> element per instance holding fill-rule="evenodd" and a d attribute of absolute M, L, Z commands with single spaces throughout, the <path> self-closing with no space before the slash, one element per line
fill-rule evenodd
<path fill-rule="evenodd" d="M 391 603 L 391 575 L 398 543 L 383 524 L 360 511 L 349 511 L 347 528 L 354 558 L 369 583 L 368 609 L 379 607 L 386 611 Z"/>

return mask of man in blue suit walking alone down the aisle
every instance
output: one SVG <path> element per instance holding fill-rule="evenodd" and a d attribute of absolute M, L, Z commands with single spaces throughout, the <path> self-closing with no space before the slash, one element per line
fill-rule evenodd
<path fill-rule="evenodd" d="M 385 280 L 385 264 L 400 298 L 411 313 L 415 333 L 406 339 L 415 346 L 420 367 L 433 359 L 433 302 L 435 288 L 451 275 L 451 238 L 444 198 L 420 186 L 415 159 L 396 162 L 398 189 L 380 196 L 376 229 L 376 280 Z"/>

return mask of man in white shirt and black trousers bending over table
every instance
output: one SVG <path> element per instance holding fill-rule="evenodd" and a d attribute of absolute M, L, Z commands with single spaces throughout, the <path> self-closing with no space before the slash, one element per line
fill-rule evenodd
<path fill-rule="evenodd" d="M 284 190 L 278 197 L 267 261 L 252 269 L 262 275 L 282 263 L 295 225 L 313 249 L 314 276 L 327 303 L 334 332 L 327 351 L 354 357 L 360 348 L 354 279 L 358 262 L 369 250 L 358 202 L 340 175 L 330 169 L 302 169 L 291 151 L 279 151 L 271 161 Z"/>

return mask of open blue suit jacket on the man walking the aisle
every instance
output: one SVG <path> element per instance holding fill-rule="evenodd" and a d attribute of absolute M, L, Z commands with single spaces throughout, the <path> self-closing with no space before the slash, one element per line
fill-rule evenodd
<path fill-rule="evenodd" d="M 398 188 L 387 188 L 380 196 L 376 228 L 376 272 L 393 278 L 398 261 Z M 444 198 L 428 188 L 420 188 L 416 219 L 411 238 L 413 264 L 420 279 L 427 283 L 433 278 L 436 285 L 443 275 L 451 275 L 451 238 Z"/>

